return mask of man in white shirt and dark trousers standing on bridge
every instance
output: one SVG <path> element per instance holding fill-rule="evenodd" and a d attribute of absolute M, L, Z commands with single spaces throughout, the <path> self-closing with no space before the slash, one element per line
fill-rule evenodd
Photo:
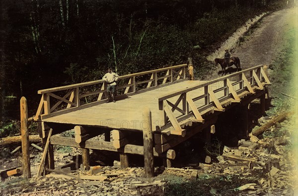
<path fill-rule="evenodd" d="M 107 96 L 108 102 L 115 101 L 115 94 L 116 94 L 116 81 L 118 80 L 119 75 L 113 72 L 112 68 L 108 68 L 108 72 L 102 77 L 103 80 L 107 82 Z M 112 99 L 111 99 L 112 98 Z"/>

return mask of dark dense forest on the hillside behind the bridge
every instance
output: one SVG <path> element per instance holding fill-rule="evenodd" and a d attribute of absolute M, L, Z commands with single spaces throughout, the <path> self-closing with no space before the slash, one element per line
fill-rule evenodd
<path fill-rule="evenodd" d="M 192 57 L 203 77 L 217 49 L 249 18 L 286 6 L 285 0 L 1 0 L 0 137 L 29 117 L 37 90 L 101 79 Z"/>

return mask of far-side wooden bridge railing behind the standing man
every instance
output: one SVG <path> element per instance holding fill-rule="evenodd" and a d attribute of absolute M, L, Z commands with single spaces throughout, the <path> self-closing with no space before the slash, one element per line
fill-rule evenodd
<path fill-rule="evenodd" d="M 139 73 L 122 75 L 117 83 L 117 98 L 128 97 L 171 83 L 187 80 L 188 65 L 175 65 Z M 67 86 L 39 90 L 41 100 L 35 120 L 68 113 L 106 102 L 107 83 L 94 80 Z"/>

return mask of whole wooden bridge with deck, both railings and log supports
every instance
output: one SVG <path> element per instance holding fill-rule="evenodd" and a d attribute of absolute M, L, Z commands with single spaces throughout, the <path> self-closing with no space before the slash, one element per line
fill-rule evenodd
<path fill-rule="evenodd" d="M 261 98 L 264 108 L 270 81 L 262 65 L 210 81 L 190 80 L 193 73 L 189 70 L 193 70 L 191 61 L 120 76 L 116 103 L 106 103 L 104 80 L 39 90 L 41 101 L 34 120 L 39 122 L 40 136 L 46 139 L 52 129 L 50 146 L 81 147 L 87 168 L 89 149 L 118 151 L 122 167 L 127 167 L 128 153 L 144 154 L 143 133 L 151 127 L 153 155 L 170 166 L 170 159 L 175 158 L 172 148 L 210 130 L 225 110 L 248 105 L 256 98 Z M 151 111 L 149 120 L 142 116 L 145 107 Z M 71 129 L 75 138 L 55 135 Z M 104 140 L 92 139 L 102 133 Z M 54 167 L 52 151 L 50 147 L 50 168 Z"/>

